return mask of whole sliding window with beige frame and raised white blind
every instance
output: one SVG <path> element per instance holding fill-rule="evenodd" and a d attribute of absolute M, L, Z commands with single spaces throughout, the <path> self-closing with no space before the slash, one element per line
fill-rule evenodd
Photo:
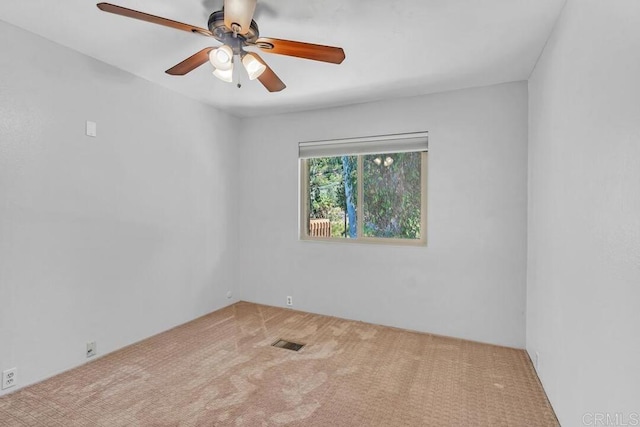
<path fill-rule="evenodd" d="M 427 133 L 299 144 L 300 236 L 424 244 Z"/>

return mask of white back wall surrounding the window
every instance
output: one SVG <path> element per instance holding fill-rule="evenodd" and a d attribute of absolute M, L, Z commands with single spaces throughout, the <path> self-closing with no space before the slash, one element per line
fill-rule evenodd
<path fill-rule="evenodd" d="M 244 300 L 524 347 L 527 87 L 243 120 Z M 298 240 L 299 141 L 429 131 L 428 246 Z"/>

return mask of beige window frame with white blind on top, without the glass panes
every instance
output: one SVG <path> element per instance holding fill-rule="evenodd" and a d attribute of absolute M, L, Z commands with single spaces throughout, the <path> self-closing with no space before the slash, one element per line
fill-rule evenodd
<path fill-rule="evenodd" d="M 428 163 L 429 139 L 427 132 L 413 132 L 395 135 L 378 135 L 363 138 L 336 139 L 327 141 L 308 141 L 298 144 L 298 160 L 300 175 L 300 199 L 299 199 L 299 232 L 300 240 L 313 242 L 344 242 L 367 244 L 391 244 L 407 246 L 424 246 L 427 243 L 427 163 Z M 393 237 L 367 237 L 363 236 L 364 218 L 362 207 L 364 206 L 363 191 L 363 165 L 362 156 L 368 154 L 420 152 L 420 238 L 401 239 Z M 358 207 L 356 231 L 354 239 L 338 237 L 311 237 L 309 236 L 309 168 L 307 159 L 317 157 L 336 157 L 352 155 L 358 157 Z"/>

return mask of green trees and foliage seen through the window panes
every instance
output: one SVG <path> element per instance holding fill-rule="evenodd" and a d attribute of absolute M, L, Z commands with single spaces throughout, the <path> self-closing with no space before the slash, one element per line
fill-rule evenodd
<path fill-rule="evenodd" d="M 423 154 L 304 160 L 309 237 L 421 239 Z M 330 230 L 316 228 L 316 224 L 327 222 Z M 362 230 L 358 230 L 358 224 Z"/>

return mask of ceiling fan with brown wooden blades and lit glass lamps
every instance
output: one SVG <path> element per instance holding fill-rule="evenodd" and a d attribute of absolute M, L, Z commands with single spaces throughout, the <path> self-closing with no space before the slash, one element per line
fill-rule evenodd
<path fill-rule="evenodd" d="M 182 22 L 150 15 L 111 3 L 98 3 L 98 9 L 152 22 L 178 30 L 213 37 L 222 43 L 220 47 L 206 47 L 191 55 L 179 64 L 165 71 L 173 76 L 182 76 L 209 61 L 213 74 L 219 79 L 232 82 L 234 58 L 239 58 L 249 75 L 249 79 L 258 79 L 269 92 L 279 92 L 286 86 L 255 52 L 247 52 L 245 47 L 257 47 L 263 52 L 295 56 L 314 61 L 340 64 L 345 55 L 342 48 L 260 37 L 258 24 L 253 20 L 257 0 L 224 0 L 222 10 L 209 16 L 209 29 L 194 27 Z"/>

